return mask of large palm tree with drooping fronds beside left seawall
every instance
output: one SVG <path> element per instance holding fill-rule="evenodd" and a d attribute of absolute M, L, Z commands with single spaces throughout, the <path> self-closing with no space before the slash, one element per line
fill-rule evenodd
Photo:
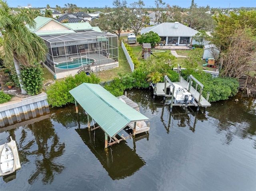
<path fill-rule="evenodd" d="M 26 91 L 20 77 L 20 65 L 26 67 L 34 61 L 44 61 L 48 52 L 43 39 L 35 33 L 31 33 L 25 23 L 30 28 L 34 28 L 36 25 L 29 14 L 12 14 L 6 0 L 0 1 L 0 30 L 4 37 L 4 44 L 0 47 L 0 52 L 6 66 L 14 64 L 22 94 L 26 94 Z"/>

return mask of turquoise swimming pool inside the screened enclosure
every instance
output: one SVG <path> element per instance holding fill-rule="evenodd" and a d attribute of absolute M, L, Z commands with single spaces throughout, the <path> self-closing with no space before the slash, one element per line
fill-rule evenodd
<path fill-rule="evenodd" d="M 55 67 L 60 69 L 72 69 L 72 68 L 80 67 L 82 64 L 83 65 L 91 64 L 93 62 L 94 62 L 94 59 L 90 59 L 90 58 L 82 58 L 82 61 L 80 58 L 74 58 L 73 61 L 60 63 L 55 65 Z"/>

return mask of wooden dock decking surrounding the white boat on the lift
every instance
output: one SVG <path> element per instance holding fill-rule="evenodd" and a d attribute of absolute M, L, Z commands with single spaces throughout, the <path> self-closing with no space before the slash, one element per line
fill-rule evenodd
<path fill-rule="evenodd" d="M 184 79 L 184 78 L 180 78 L 180 82 L 174 82 L 180 86 L 182 86 L 185 89 L 188 89 L 188 82 Z M 166 95 L 166 93 L 164 93 L 164 84 L 165 83 L 157 83 L 156 84 L 156 89 L 154 91 L 154 95 L 157 96 L 165 96 L 165 97 L 171 97 L 172 95 Z M 154 85 L 151 84 L 151 86 L 154 89 Z M 166 87 L 170 86 L 169 82 L 166 82 Z M 209 107 L 211 106 L 210 102 L 208 102 L 206 100 L 206 98 L 204 98 L 203 96 L 201 96 L 201 100 L 199 102 L 199 96 L 200 93 L 198 91 L 196 91 L 196 89 L 194 89 L 194 87 L 190 86 L 190 91 L 189 91 L 193 97 L 194 97 L 194 102 L 192 104 L 188 104 L 188 106 L 202 106 L 202 107 Z M 199 102 L 199 105 L 198 105 Z M 180 106 L 182 104 L 172 104 L 173 106 Z"/>

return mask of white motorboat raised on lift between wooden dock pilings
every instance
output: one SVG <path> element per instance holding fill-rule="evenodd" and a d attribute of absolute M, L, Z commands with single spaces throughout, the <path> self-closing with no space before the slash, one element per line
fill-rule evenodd
<path fill-rule="evenodd" d="M 174 104 L 185 104 L 185 106 L 188 106 L 188 104 L 192 104 L 194 101 L 193 95 L 188 92 L 184 87 L 173 83 L 174 85 Z M 170 85 L 167 88 L 170 89 L 170 95 L 172 94 L 173 87 Z"/>

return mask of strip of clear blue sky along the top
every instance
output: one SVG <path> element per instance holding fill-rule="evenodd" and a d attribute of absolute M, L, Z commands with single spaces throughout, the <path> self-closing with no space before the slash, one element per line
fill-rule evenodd
<path fill-rule="evenodd" d="M 56 5 L 64 7 L 64 4 L 76 4 L 78 7 L 99 7 L 104 8 L 105 6 L 113 7 L 113 0 L 6 0 L 9 7 L 28 6 L 31 4 L 32 7 L 46 7 L 47 4 L 50 7 L 55 8 Z M 121 0 L 122 1 L 122 0 Z M 130 5 L 138 0 L 126 0 L 127 4 Z M 155 7 L 155 0 L 143 0 L 145 7 Z M 188 8 L 191 5 L 191 0 L 163 0 L 170 6 L 176 5 L 182 8 Z M 256 7 L 256 0 L 194 0 L 198 6 L 207 5 L 210 8 L 240 8 L 240 7 Z"/>

